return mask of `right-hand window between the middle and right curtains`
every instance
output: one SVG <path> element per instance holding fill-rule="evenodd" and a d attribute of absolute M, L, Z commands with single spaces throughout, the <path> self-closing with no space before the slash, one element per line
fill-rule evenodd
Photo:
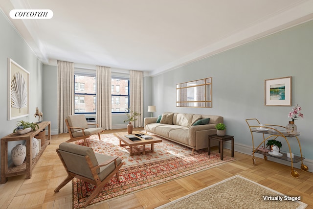
<path fill-rule="evenodd" d="M 112 113 L 125 113 L 129 111 L 129 79 L 116 78 L 111 80 L 112 91 Z"/>

